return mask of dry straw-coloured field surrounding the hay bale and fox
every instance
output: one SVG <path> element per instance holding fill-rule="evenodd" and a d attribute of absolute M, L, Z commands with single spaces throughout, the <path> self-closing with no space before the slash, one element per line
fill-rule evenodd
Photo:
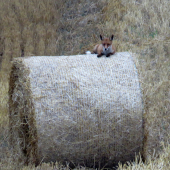
<path fill-rule="evenodd" d="M 19 169 L 8 144 L 10 61 L 83 54 L 100 41 L 100 34 L 114 34 L 118 52 L 135 53 L 144 96 L 141 154 L 147 163 L 139 159 L 119 169 L 170 169 L 169 0 L 0 0 L 0 169 Z M 22 169 L 58 168 L 63 166 Z"/>

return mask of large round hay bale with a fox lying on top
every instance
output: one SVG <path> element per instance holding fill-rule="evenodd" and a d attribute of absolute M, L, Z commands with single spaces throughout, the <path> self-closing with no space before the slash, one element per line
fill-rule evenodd
<path fill-rule="evenodd" d="M 11 143 L 27 163 L 111 166 L 142 150 L 142 94 L 127 52 L 17 58 L 9 86 Z"/>

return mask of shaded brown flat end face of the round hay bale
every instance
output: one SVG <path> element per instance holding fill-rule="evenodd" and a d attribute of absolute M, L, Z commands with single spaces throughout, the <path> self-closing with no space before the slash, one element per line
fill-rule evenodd
<path fill-rule="evenodd" d="M 14 60 L 9 81 L 10 144 L 18 162 L 38 165 L 35 109 L 30 96 L 29 69 L 22 60 Z"/>

